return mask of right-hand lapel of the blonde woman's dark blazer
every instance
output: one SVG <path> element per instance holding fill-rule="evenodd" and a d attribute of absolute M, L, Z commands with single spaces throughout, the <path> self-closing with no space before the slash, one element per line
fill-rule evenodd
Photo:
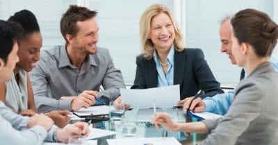
<path fill-rule="evenodd" d="M 179 84 L 180 88 L 183 83 L 183 76 L 186 71 L 186 55 L 185 51 L 174 51 L 174 85 Z"/>

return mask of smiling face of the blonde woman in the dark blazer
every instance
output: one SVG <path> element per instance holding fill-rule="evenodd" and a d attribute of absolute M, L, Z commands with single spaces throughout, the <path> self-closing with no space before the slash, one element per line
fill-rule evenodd
<path fill-rule="evenodd" d="M 168 15 L 162 12 L 153 17 L 149 37 L 157 51 L 170 50 L 175 33 L 173 23 Z"/>

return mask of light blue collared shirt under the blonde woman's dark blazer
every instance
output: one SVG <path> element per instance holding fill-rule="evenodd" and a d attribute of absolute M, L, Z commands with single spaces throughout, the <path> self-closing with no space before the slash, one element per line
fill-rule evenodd
<path fill-rule="evenodd" d="M 161 61 L 158 58 L 156 51 L 154 51 L 154 61 L 156 62 L 156 70 L 158 72 L 158 87 L 170 86 L 173 85 L 174 82 L 174 46 L 172 45 L 168 56 L 167 56 L 167 64 L 168 69 L 166 74 L 164 74 L 163 67 L 161 65 Z"/>

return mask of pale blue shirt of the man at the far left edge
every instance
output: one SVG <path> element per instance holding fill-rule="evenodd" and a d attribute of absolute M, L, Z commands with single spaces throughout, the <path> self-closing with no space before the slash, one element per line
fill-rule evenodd
<path fill-rule="evenodd" d="M 42 126 L 27 128 L 28 117 L 22 117 L 7 108 L 0 101 L 0 141 L 1 144 L 38 145 L 44 141 L 53 142 L 52 136 L 56 126 L 47 133 Z"/>

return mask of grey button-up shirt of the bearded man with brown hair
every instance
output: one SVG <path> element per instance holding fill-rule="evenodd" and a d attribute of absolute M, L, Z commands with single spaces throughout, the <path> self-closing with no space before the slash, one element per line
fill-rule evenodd
<path fill-rule="evenodd" d="M 76 96 L 83 90 L 99 92 L 100 99 L 115 100 L 120 88 L 125 88 L 122 73 L 116 69 L 108 49 L 97 48 L 88 55 L 81 70 L 70 63 L 65 45 L 44 50 L 41 59 L 30 73 L 31 85 L 38 112 L 72 110 L 72 100 L 59 100 L 61 96 Z"/>

